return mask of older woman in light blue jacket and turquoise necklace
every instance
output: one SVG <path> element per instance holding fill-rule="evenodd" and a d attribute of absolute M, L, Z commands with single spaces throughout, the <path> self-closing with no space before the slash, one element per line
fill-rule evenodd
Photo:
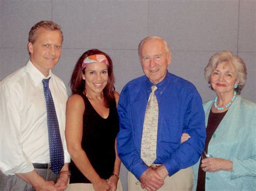
<path fill-rule="evenodd" d="M 203 104 L 207 137 L 193 166 L 194 190 L 256 189 L 256 104 L 239 96 L 246 74 L 229 51 L 214 54 L 205 68 L 217 96 Z"/>

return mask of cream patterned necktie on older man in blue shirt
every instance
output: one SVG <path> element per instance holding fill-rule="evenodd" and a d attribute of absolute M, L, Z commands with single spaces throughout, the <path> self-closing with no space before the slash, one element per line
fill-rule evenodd
<path fill-rule="evenodd" d="M 142 133 L 142 147 L 140 157 L 147 164 L 152 165 L 157 156 L 157 128 L 158 128 L 158 103 L 154 92 L 157 90 L 156 86 L 151 87 L 152 92 L 147 101 L 147 107 L 144 118 L 143 133 Z"/>

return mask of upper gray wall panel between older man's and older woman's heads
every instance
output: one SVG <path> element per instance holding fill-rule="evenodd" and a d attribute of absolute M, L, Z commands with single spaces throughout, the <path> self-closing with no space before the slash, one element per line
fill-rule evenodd
<path fill-rule="evenodd" d="M 150 1 L 149 34 L 164 37 L 175 51 L 237 52 L 238 0 Z"/>

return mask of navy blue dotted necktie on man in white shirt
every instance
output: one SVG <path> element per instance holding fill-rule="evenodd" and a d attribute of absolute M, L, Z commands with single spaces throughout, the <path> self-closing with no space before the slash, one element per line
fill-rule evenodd
<path fill-rule="evenodd" d="M 44 96 L 47 111 L 48 139 L 50 150 L 50 168 L 55 174 L 60 172 L 64 165 L 64 152 L 62 138 L 59 133 L 58 118 L 55 111 L 54 102 L 49 88 L 49 79 L 43 79 Z"/>

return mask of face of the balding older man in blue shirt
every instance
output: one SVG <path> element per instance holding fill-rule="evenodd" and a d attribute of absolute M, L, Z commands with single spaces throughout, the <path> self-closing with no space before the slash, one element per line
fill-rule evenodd
<path fill-rule="evenodd" d="M 162 40 L 149 39 L 141 47 L 140 62 L 145 75 L 153 84 L 157 84 L 166 76 L 171 53 L 167 53 Z"/>

